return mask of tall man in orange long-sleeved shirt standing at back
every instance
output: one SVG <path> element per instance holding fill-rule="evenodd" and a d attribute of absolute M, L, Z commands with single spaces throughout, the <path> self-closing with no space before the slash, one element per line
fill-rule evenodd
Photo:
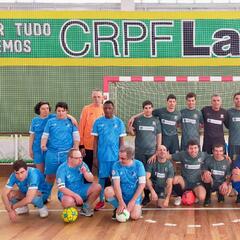
<path fill-rule="evenodd" d="M 93 90 L 92 103 L 83 108 L 78 127 L 80 133 L 80 151 L 83 155 L 83 161 L 88 165 L 90 171 L 92 171 L 93 165 L 94 141 L 91 132 L 95 120 L 104 114 L 102 102 L 102 91 L 98 89 Z"/>

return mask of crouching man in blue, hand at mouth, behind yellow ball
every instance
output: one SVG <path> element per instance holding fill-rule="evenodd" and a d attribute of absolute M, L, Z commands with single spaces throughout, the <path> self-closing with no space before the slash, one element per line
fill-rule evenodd
<path fill-rule="evenodd" d="M 99 197 L 101 186 L 93 183 L 94 176 L 90 172 L 78 149 L 71 149 L 67 162 L 57 170 L 58 199 L 64 208 L 82 205 L 80 214 L 91 217 L 91 205 Z M 85 183 L 86 180 L 88 183 Z"/>

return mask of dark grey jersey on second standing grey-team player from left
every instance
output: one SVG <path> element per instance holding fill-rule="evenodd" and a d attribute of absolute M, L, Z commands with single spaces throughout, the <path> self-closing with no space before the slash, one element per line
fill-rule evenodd
<path fill-rule="evenodd" d="M 163 135 L 177 135 L 177 123 L 181 120 L 179 111 L 169 112 L 166 107 L 153 110 L 153 115 L 159 117 Z"/>

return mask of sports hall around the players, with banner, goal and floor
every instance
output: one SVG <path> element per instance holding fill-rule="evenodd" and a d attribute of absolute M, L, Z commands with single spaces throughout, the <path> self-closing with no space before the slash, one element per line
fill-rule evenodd
<path fill-rule="evenodd" d="M 15 161 L 34 167 L 29 128 L 39 101 L 49 102 L 52 113 L 66 102 L 79 122 L 92 90 L 101 89 L 127 130 L 145 100 L 164 107 L 174 94 L 180 111 L 194 92 L 201 110 L 217 94 L 230 109 L 240 92 L 240 0 L 0 0 L 0 16 L 1 193 Z M 224 137 L 227 145 L 226 127 Z M 134 147 L 128 130 L 124 141 Z M 97 183 L 95 168 L 93 174 Z M 140 219 L 125 223 L 112 220 L 108 203 L 92 217 L 65 223 L 57 191 L 55 183 L 44 219 L 31 205 L 12 223 L 0 199 L 0 238 L 240 239 L 234 190 L 224 203 L 213 193 L 207 207 L 175 206 L 171 196 L 168 207 L 149 203 Z"/>

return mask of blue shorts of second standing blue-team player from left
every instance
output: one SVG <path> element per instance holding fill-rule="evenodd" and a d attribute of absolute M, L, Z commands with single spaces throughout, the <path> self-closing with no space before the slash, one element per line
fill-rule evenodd
<path fill-rule="evenodd" d="M 67 161 L 68 151 L 54 152 L 47 150 L 45 158 L 45 171 L 46 175 L 56 175 L 58 167 Z"/>

